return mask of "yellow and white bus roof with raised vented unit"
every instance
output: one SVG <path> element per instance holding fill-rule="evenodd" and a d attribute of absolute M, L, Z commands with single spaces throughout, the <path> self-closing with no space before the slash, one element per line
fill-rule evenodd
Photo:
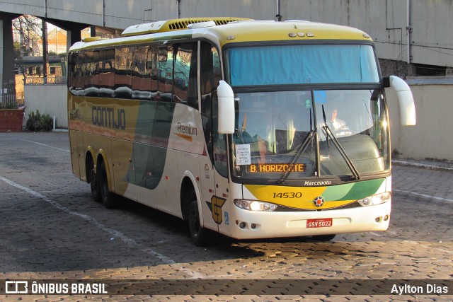
<path fill-rule="evenodd" d="M 178 21 L 179 29 L 174 25 Z M 192 22 L 191 22 L 192 21 Z M 197 21 L 197 22 L 195 22 Z M 211 22 L 209 22 L 211 21 Z M 212 23 L 214 21 L 215 25 Z M 198 23 L 193 29 L 189 24 Z M 173 25 L 172 25 L 173 24 Z M 253 21 L 244 18 L 185 18 L 171 21 L 144 23 L 127 28 L 122 37 L 114 39 L 88 39 L 76 42 L 71 51 L 134 45 L 159 40 L 178 40 L 208 37 L 220 47 L 236 42 L 296 41 L 296 40 L 366 40 L 372 39 L 362 30 L 349 26 L 309 21 Z"/>

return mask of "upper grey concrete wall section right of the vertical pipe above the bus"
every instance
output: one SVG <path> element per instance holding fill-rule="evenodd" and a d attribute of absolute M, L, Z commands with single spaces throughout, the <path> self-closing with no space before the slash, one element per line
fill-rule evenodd
<path fill-rule="evenodd" d="M 372 37 L 381 59 L 407 62 L 409 55 L 411 63 L 453 66 L 452 0 L 287 0 L 281 9 L 285 20 L 360 28 Z"/>

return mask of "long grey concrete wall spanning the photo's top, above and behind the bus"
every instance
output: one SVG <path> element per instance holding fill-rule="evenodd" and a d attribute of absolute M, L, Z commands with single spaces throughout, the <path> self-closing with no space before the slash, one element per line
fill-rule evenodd
<path fill-rule="evenodd" d="M 257 20 L 276 20 L 278 12 L 276 0 L 180 0 L 179 6 L 176 0 L 0 0 L 0 11 L 119 29 L 177 18 L 178 12 L 181 18 Z M 409 54 L 411 63 L 453 67 L 452 0 L 280 0 L 280 15 L 360 28 L 381 59 L 407 62 Z"/>

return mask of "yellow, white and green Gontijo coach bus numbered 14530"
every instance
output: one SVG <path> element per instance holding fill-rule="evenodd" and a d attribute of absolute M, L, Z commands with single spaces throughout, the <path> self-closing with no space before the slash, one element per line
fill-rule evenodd
<path fill-rule="evenodd" d="M 182 18 L 89 37 L 68 54 L 73 173 L 187 221 L 195 245 L 384 231 L 391 215 L 385 88 L 408 85 L 372 39 L 307 21 Z"/>

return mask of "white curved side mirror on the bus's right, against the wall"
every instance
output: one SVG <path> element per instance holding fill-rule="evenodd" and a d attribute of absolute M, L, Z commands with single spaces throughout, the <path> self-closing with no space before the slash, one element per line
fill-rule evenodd
<path fill-rule="evenodd" d="M 390 76 L 389 82 L 390 87 L 396 93 L 396 98 L 398 98 L 401 124 L 403 126 L 413 126 L 416 123 L 416 118 L 411 88 L 398 76 Z"/>

